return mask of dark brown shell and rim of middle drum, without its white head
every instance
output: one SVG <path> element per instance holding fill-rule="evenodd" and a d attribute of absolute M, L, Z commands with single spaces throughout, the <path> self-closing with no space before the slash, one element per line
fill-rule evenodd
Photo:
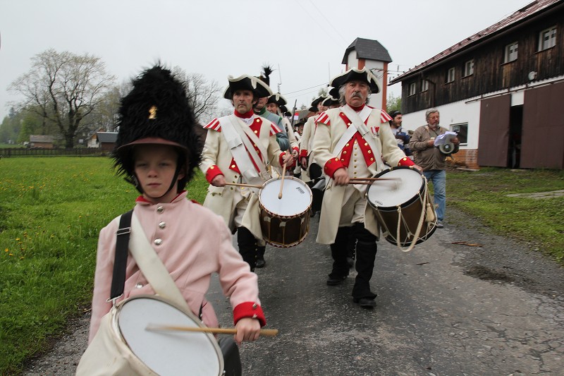
<path fill-rule="evenodd" d="M 266 181 L 269 184 L 279 181 L 281 178 Z M 262 189 L 259 192 L 260 225 L 264 241 L 278 248 L 290 248 L 304 241 L 309 232 L 309 209 L 312 206 L 312 191 L 300 179 L 292 176 L 284 176 L 284 180 L 300 182 L 300 186 L 309 194 L 309 205 L 295 214 L 282 215 L 269 210 L 262 200 Z M 264 187 L 263 187 L 264 189 Z"/>

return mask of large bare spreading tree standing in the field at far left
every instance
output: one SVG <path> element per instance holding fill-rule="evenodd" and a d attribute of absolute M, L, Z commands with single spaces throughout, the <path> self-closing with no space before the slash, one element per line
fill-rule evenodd
<path fill-rule="evenodd" d="M 71 148 L 82 131 L 82 120 L 102 102 L 113 82 L 114 76 L 106 73 L 98 57 L 48 49 L 32 58 L 30 71 L 13 81 L 8 90 L 23 95 L 20 108 L 55 123 L 65 146 Z"/>

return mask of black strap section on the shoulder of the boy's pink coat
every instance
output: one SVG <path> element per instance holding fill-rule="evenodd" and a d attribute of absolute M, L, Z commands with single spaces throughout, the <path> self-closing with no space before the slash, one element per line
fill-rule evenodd
<path fill-rule="evenodd" d="M 110 300 L 123 294 L 125 286 L 125 267 L 128 262 L 128 245 L 131 233 L 131 215 L 133 209 L 121 215 L 119 229 L 116 233 L 116 258 L 114 259 L 114 274 L 111 277 Z"/>

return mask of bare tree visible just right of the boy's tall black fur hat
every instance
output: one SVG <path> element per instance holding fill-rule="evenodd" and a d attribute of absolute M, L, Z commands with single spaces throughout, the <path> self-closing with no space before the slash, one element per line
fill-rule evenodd
<path fill-rule="evenodd" d="M 221 91 L 219 84 L 215 80 L 208 82 L 201 73 L 185 73 L 179 66 L 173 68 L 173 73 L 186 85 L 188 103 L 196 120 L 199 123 L 211 120 L 217 111 Z"/>

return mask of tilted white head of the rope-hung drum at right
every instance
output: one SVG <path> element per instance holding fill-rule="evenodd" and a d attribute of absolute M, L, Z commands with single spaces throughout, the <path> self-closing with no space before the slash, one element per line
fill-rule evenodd
<path fill-rule="evenodd" d="M 374 207 L 395 207 L 415 197 L 421 190 L 423 177 L 413 169 L 391 169 L 378 176 L 393 180 L 377 180 L 367 190 L 367 200 Z"/>

